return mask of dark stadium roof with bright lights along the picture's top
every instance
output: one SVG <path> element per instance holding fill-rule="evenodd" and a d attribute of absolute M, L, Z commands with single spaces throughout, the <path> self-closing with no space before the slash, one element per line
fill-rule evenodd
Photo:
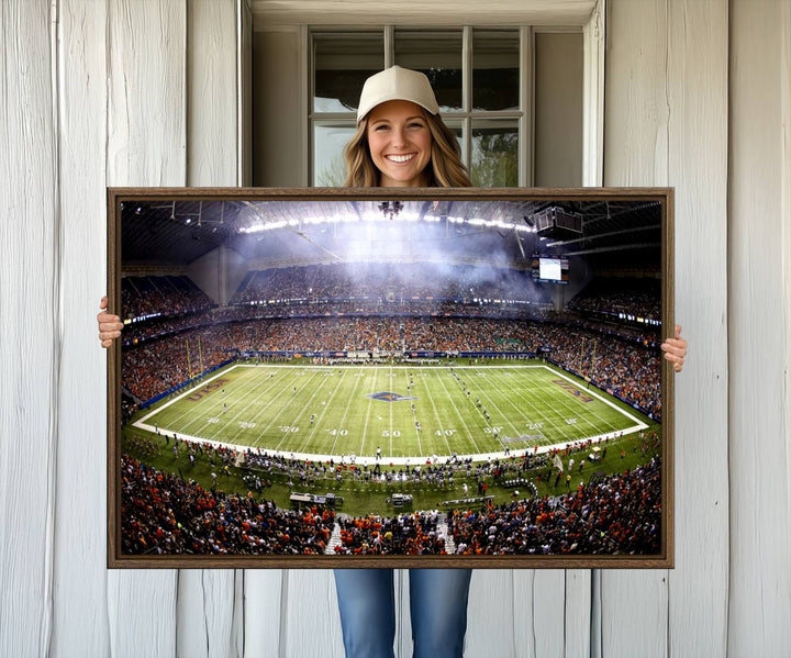
<path fill-rule="evenodd" d="M 537 233 L 537 216 L 552 208 L 580 218 L 581 233 Z M 467 254 L 519 264 L 542 253 L 658 264 L 661 236 L 658 201 L 610 199 L 141 200 L 123 202 L 121 220 L 125 266 L 187 266 L 223 245 L 254 263 L 289 255 L 294 264 L 425 258 L 438 244 L 460 261 Z"/>

